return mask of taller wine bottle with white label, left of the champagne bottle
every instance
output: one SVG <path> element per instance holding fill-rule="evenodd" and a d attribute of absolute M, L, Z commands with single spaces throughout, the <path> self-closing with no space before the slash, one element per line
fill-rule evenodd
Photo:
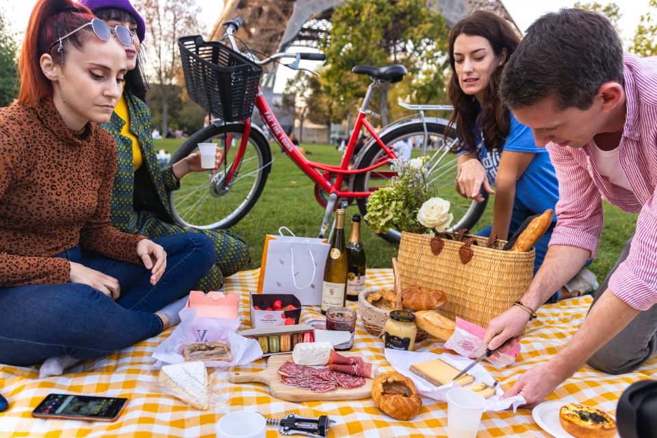
<path fill-rule="evenodd" d="M 322 283 L 322 315 L 331 307 L 344 307 L 347 286 L 347 252 L 344 243 L 344 209 L 335 211 L 335 229 L 326 257 Z"/>

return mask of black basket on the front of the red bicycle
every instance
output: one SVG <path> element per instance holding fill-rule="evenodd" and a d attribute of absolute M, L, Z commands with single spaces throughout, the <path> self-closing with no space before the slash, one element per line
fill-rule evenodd
<path fill-rule="evenodd" d="M 227 122 L 250 117 L 262 67 L 216 41 L 198 35 L 178 40 L 185 87 L 192 101 Z"/>

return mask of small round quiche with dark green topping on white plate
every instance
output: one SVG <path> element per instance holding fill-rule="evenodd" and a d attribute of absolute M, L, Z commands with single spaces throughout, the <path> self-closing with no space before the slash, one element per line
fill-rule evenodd
<path fill-rule="evenodd" d="M 559 410 L 561 427 L 577 438 L 613 438 L 616 422 L 608 413 L 583 404 L 565 404 Z"/>

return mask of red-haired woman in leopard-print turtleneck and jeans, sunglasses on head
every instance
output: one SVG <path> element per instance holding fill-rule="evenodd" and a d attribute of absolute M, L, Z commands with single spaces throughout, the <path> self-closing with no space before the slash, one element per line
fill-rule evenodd
<path fill-rule="evenodd" d="M 110 224 L 131 35 L 71 0 L 29 19 L 18 101 L 0 110 L 0 362 L 51 373 L 157 335 L 214 263 L 204 235 L 155 242 Z M 123 44 L 123 45 L 122 45 Z"/>

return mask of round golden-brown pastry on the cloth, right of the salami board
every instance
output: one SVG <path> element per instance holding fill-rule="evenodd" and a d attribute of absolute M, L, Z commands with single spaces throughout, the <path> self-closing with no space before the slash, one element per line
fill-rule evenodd
<path fill-rule="evenodd" d="M 372 383 L 372 400 L 378 409 L 395 420 L 411 420 L 422 408 L 413 381 L 397 372 L 379 374 Z"/>

